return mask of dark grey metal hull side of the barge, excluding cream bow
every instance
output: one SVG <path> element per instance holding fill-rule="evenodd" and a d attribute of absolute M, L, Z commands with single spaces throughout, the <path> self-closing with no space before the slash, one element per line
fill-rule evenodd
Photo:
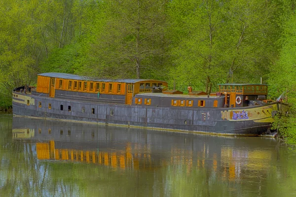
<path fill-rule="evenodd" d="M 13 101 L 14 115 L 162 130 L 251 136 L 269 134 L 271 126 L 271 122 L 268 121 L 223 120 L 221 112 L 225 108 L 189 109 L 63 100 L 34 95 L 30 97 L 35 99 L 35 105 Z M 38 102 L 42 103 L 41 107 L 38 106 Z M 51 103 L 51 109 L 48 109 L 48 103 Z M 64 110 L 60 109 L 60 105 L 63 105 Z M 71 111 L 68 111 L 68 106 L 71 106 Z M 84 112 L 81 111 L 82 107 L 85 109 Z"/>

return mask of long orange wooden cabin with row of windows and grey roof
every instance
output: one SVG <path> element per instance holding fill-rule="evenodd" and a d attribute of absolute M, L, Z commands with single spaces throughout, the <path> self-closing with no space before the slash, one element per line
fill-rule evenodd
<path fill-rule="evenodd" d="M 168 84 L 159 80 L 93 79 L 74 74 L 49 72 L 38 74 L 36 91 L 37 93 L 49 94 L 51 98 L 55 97 L 56 90 L 98 95 L 118 95 L 125 97 L 126 104 L 131 104 L 132 97 L 135 94 L 151 92 L 154 86 L 167 87 Z M 85 94 L 83 96 L 85 97 Z"/>

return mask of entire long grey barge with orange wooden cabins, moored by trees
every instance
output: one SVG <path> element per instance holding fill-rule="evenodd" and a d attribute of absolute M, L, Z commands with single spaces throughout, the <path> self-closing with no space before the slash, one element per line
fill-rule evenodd
<path fill-rule="evenodd" d="M 272 136 L 273 116 L 288 112 L 266 100 L 267 85 L 218 85 L 214 95 L 191 87 L 183 94 L 165 81 L 51 72 L 38 74 L 36 88 L 14 89 L 12 106 L 17 116 L 247 136 Z"/>

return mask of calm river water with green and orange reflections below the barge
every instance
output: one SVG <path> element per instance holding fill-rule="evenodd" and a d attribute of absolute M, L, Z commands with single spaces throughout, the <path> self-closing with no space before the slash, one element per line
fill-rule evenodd
<path fill-rule="evenodd" d="M 274 138 L 0 114 L 0 196 L 290 197 L 296 153 Z"/>

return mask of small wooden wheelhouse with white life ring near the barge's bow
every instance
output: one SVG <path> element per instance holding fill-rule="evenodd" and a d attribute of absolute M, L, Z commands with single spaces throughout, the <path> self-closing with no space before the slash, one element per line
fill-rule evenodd
<path fill-rule="evenodd" d="M 264 84 L 218 84 L 219 92 L 225 95 L 229 107 L 248 106 L 250 100 L 266 99 L 267 85 Z M 229 97 L 228 97 L 229 96 Z M 228 98 L 228 99 L 227 99 Z"/>

